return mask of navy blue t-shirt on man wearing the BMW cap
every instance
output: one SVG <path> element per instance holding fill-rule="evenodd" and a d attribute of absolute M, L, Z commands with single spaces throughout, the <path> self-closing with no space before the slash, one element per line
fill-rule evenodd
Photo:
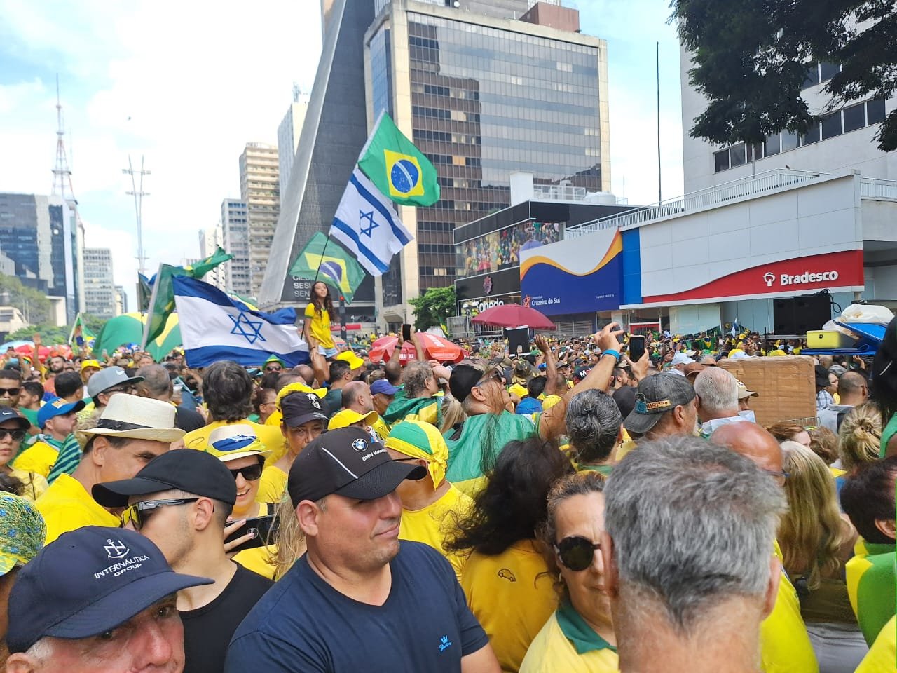
<path fill-rule="evenodd" d="M 438 673 L 489 641 L 448 561 L 403 540 L 382 606 L 344 596 L 302 556 L 239 625 L 225 673 Z"/>

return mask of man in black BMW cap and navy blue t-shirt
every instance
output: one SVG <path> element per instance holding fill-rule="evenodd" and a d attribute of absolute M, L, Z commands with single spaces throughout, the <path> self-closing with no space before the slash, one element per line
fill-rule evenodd
<path fill-rule="evenodd" d="M 498 673 L 445 557 L 398 540 L 396 486 L 425 475 L 361 428 L 312 441 L 288 485 L 308 552 L 239 625 L 225 673 Z"/>

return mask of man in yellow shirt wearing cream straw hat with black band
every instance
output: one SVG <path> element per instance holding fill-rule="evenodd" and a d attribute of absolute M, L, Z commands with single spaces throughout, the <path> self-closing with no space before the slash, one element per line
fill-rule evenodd
<path fill-rule="evenodd" d="M 118 516 L 93 500 L 93 485 L 135 476 L 184 436 L 174 426 L 174 406 L 135 395 L 109 399 L 96 427 L 83 433 L 90 439 L 81 463 L 71 476 L 60 475 L 36 503 L 47 522 L 48 544 L 83 526 L 118 527 Z"/>

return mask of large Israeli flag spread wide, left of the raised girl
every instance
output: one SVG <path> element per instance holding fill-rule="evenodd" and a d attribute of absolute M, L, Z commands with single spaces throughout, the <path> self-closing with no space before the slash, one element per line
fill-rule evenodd
<path fill-rule="evenodd" d="M 186 275 L 171 277 L 180 336 L 190 367 L 220 360 L 260 365 L 269 355 L 287 367 L 309 362 L 309 345 L 296 329 L 296 310 L 250 310 L 216 287 Z"/>

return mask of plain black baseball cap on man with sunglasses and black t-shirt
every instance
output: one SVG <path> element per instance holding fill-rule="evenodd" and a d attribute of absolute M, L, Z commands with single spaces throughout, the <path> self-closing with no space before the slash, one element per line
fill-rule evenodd
<path fill-rule="evenodd" d="M 91 494 L 103 507 L 127 507 L 132 495 L 175 488 L 230 505 L 237 502 L 237 482 L 231 470 L 212 454 L 195 449 L 163 453 L 150 460 L 133 478 L 95 484 Z"/>

